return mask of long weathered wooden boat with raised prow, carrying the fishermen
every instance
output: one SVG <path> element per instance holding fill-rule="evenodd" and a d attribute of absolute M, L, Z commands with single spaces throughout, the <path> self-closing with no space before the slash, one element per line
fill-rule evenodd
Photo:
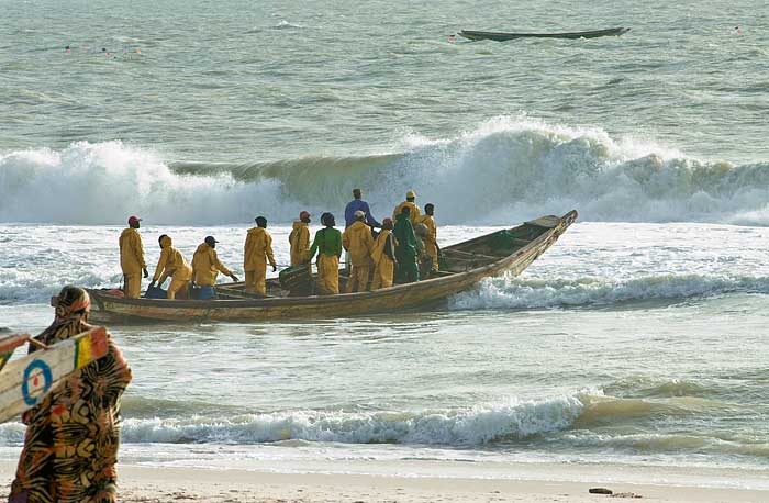
<path fill-rule="evenodd" d="M 91 317 L 111 322 L 136 321 L 267 321 L 330 318 L 415 309 L 468 290 L 481 279 L 517 276 L 549 248 L 577 217 L 542 216 L 443 248 L 442 270 L 431 278 L 374 292 L 338 295 L 288 297 L 277 279 L 267 281 L 267 298 L 244 292 L 244 284 L 216 287 L 215 300 L 129 299 L 109 290 L 89 289 Z M 346 278 L 339 278 L 341 287 Z"/>

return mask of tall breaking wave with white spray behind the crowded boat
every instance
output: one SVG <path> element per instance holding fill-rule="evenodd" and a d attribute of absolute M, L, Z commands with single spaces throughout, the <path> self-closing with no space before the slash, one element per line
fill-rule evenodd
<path fill-rule="evenodd" d="M 363 187 L 387 214 L 414 189 L 443 223 L 509 224 L 576 208 L 582 220 L 769 223 L 769 167 L 689 158 L 602 130 L 497 118 L 452 138 L 403 138 L 391 155 L 279 163 L 168 163 L 119 142 L 0 155 L 0 220 L 114 223 L 288 222 L 339 212 Z"/>

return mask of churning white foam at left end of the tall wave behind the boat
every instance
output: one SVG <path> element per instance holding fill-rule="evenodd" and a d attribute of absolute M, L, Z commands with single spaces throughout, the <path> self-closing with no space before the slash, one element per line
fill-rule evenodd
<path fill-rule="evenodd" d="M 140 214 L 155 223 L 247 222 L 257 208 L 282 214 L 279 186 L 180 176 L 155 153 L 79 142 L 0 156 L 0 221 L 114 224 Z"/>

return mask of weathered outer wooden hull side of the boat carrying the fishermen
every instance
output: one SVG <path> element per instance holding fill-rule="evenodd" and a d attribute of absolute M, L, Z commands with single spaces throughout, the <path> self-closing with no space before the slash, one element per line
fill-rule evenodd
<path fill-rule="evenodd" d="M 334 318 L 381 312 L 419 309 L 436 303 L 455 293 L 468 290 L 488 277 L 520 275 L 539 255 L 549 248 L 577 217 L 569 212 L 554 219 L 554 225 L 513 254 L 491 264 L 465 272 L 427 279 L 415 283 L 398 284 L 374 292 L 297 298 L 233 299 L 233 300 L 166 300 L 127 299 L 101 290 L 89 290 L 92 298 L 92 317 L 99 321 L 137 322 L 244 322 L 287 318 Z M 460 244 L 472 246 L 480 238 Z M 480 243 L 480 242 L 479 242 Z M 457 246 L 460 246 L 457 245 Z M 452 247 L 448 249 L 450 250 Z"/>

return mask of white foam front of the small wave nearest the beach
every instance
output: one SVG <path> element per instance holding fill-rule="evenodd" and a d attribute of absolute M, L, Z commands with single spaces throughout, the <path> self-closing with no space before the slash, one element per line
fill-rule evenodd
<path fill-rule="evenodd" d="M 577 395 L 405 412 L 294 411 L 236 417 L 125 420 L 126 443 L 258 444 L 288 439 L 347 444 L 481 445 L 568 428 L 583 409 Z"/>

